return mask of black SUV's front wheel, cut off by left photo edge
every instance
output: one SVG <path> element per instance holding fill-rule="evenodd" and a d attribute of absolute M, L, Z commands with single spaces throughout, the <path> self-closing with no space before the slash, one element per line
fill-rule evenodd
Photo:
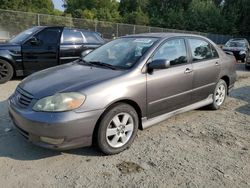
<path fill-rule="evenodd" d="M 13 77 L 13 67 L 10 63 L 0 59 L 0 84 L 8 82 Z"/>

